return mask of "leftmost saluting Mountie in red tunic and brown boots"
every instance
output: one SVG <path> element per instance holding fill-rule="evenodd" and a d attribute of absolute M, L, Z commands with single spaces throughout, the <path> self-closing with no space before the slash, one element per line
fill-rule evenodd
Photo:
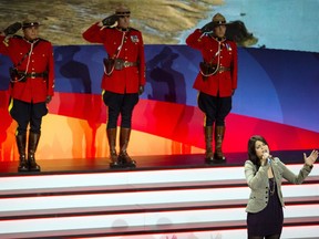
<path fill-rule="evenodd" d="M 41 135 L 47 103 L 54 93 L 53 48 L 38 38 L 37 21 L 16 22 L 0 33 L 0 53 L 12 61 L 10 67 L 10 115 L 18 123 L 16 142 L 20 155 L 18 172 L 40 172 L 35 150 Z M 23 37 L 14 35 L 22 28 Z M 28 159 L 27 132 L 29 129 Z"/>

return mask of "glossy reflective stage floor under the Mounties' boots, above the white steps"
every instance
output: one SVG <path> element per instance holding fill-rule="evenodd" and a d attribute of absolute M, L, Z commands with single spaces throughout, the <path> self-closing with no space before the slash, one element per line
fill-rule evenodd
<path fill-rule="evenodd" d="M 303 164 L 302 153 L 308 155 L 310 150 L 271 152 L 272 156 L 279 157 L 285 164 Z M 107 158 L 37 159 L 37 163 L 41 166 L 41 172 L 32 174 L 72 174 L 107 170 L 231 167 L 244 166 L 245 160 L 247 159 L 246 153 L 225 153 L 225 163 L 209 165 L 205 164 L 203 154 L 134 156 L 133 159 L 137 162 L 137 167 L 132 169 L 110 169 Z M 16 175 L 18 164 L 19 162 L 0 162 L 0 174 Z"/>

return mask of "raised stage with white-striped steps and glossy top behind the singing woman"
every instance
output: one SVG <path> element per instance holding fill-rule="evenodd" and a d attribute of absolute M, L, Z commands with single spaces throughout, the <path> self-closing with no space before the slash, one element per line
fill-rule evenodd
<path fill-rule="evenodd" d="M 303 152 L 272 152 L 299 172 Z M 307 154 L 309 152 L 306 152 Z M 135 156 L 137 168 L 105 158 L 39 159 L 42 172 L 0 163 L 0 238 L 245 239 L 246 154 L 206 165 L 203 154 Z M 319 237 L 319 167 L 302 185 L 282 184 L 282 239 Z"/>

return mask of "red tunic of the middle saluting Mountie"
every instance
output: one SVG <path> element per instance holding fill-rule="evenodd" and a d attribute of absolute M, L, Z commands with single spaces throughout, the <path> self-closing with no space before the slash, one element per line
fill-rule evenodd
<path fill-rule="evenodd" d="M 119 46 L 123 46 L 119 59 L 138 62 L 137 66 L 114 70 L 111 75 L 103 74 L 101 87 L 105 91 L 124 94 L 137 93 L 140 85 L 145 85 L 145 56 L 142 33 L 130 28 L 122 31 L 116 28 L 100 28 L 97 23 L 83 32 L 83 38 L 92 43 L 103 43 L 110 58 L 116 55 Z"/>

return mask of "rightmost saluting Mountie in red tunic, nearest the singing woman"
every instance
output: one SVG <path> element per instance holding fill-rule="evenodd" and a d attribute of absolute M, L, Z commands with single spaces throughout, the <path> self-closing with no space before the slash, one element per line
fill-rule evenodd
<path fill-rule="evenodd" d="M 226 159 L 222 152 L 225 118 L 231 110 L 231 96 L 237 89 L 237 45 L 225 38 L 226 30 L 225 17 L 216 13 L 212 22 L 196 29 L 186 39 L 186 44 L 199 50 L 203 56 L 193 87 L 199 92 L 198 107 L 205 113 L 205 162 L 208 164 Z"/>

